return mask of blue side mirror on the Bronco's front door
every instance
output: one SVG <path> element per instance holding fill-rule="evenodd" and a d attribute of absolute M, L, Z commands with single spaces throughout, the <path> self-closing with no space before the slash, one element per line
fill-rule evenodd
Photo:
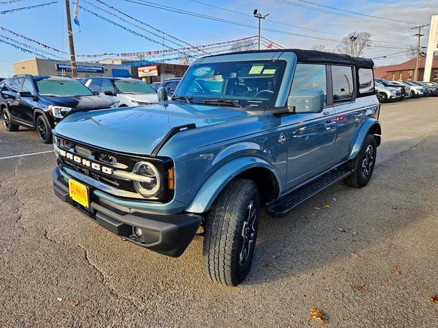
<path fill-rule="evenodd" d="M 287 108 L 294 113 L 320 113 L 324 109 L 322 90 L 301 90 L 287 98 Z"/>

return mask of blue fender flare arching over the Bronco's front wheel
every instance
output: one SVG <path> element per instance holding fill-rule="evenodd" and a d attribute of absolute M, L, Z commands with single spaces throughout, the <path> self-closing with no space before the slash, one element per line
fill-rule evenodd
<path fill-rule="evenodd" d="M 213 204 L 220 191 L 231 181 L 233 178 L 241 174 L 242 172 L 252 169 L 254 167 L 261 167 L 269 169 L 276 178 L 276 182 L 281 188 L 281 183 L 278 174 L 276 174 L 274 167 L 268 162 L 263 161 L 259 157 L 244 156 L 240 159 L 234 159 L 229 163 L 220 167 L 214 174 L 205 181 L 203 187 L 199 189 L 198 193 L 194 197 L 192 203 L 186 209 L 190 213 L 204 213 L 209 210 L 211 204 Z M 281 193 L 281 191 L 279 191 Z"/>

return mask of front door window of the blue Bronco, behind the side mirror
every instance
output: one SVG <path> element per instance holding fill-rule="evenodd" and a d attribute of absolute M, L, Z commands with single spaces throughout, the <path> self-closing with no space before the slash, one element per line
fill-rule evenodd
<path fill-rule="evenodd" d="M 289 96 L 299 91 L 321 90 L 324 92 L 324 105 L 327 104 L 326 66 L 314 64 L 297 64 L 294 81 Z"/>

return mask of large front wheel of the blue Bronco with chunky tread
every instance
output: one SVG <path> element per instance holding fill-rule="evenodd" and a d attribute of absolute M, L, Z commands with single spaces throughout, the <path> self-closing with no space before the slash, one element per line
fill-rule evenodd
<path fill-rule="evenodd" d="M 253 263 L 259 230 L 260 196 L 252 180 L 237 178 L 209 210 L 204 238 L 204 271 L 212 281 L 237 286 Z"/>

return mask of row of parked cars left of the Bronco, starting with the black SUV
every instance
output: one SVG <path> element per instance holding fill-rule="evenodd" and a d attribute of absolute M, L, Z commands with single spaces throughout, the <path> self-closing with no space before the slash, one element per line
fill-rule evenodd
<path fill-rule="evenodd" d="M 138 79 L 16 75 L 0 81 L 0 109 L 8 131 L 35 128 L 43 143 L 52 142 L 52 128 L 70 111 L 131 107 L 158 102 L 157 89 L 175 92 L 180 79 L 148 85 Z"/>

